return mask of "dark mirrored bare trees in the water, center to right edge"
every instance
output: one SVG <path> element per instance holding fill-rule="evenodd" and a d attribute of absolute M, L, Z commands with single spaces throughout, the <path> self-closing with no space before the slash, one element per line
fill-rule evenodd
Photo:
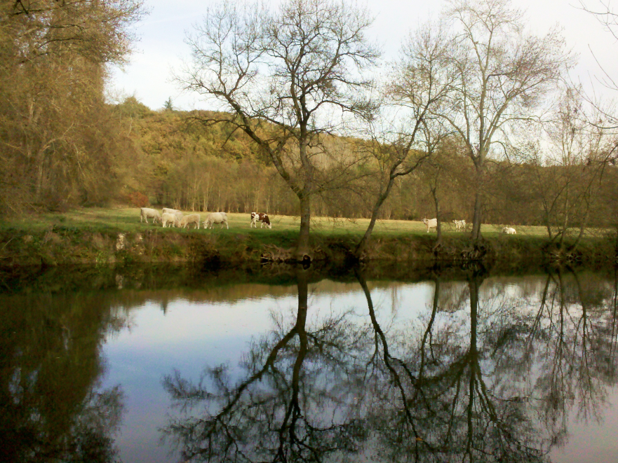
<path fill-rule="evenodd" d="M 180 412 L 163 431 L 184 459 L 544 462 L 570 410 L 598 417 L 616 382 L 605 280 L 558 271 L 537 298 L 483 286 L 482 270 L 436 276 L 418 320 L 383 327 L 360 271 L 363 319 L 311 317 L 309 272 L 297 270 L 295 316 L 250 345 L 241 379 L 224 366 L 196 385 L 166 378 Z"/>

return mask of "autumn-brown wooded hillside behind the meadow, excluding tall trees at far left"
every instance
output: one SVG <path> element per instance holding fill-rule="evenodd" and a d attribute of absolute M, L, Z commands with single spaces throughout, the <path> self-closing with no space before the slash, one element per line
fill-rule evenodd
<path fill-rule="evenodd" d="M 183 210 L 298 214 L 298 201 L 268 160 L 242 132 L 217 124 L 192 123 L 192 113 L 152 111 L 133 97 L 112 108 L 118 127 L 130 139 L 130 156 L 116 168 L 122 179 L 118 199 L 134 205 Z M 349 150 L 365 141 L 348 140 Z M 475 172 L 455 141 L 443 144 L 436 163 L 397 180 L 380 212 L 382 219 L 436 216 L 431 186 L 437 178 L 443 220 L 471 219 Z M 317 216 L 370 216 L 375 179 L 363 176 L 368 166 L 343 188 L 314 198 Z M 570 166 L 539 163 L 492 163 L 483 179 L 485 221 L 545 225 L 567 219 L 572 226 L 614 223 L 618 202 L 613 192 L 618 173 L 613 165 L 586 159 Z M 586 213 L 587 210 L 587 213 Z"/>

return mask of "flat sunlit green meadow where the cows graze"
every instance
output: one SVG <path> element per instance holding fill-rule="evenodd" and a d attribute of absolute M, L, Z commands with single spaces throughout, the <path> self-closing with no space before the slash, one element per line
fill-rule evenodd
<path fill-rule="evenodd" d="M 189 212 L 185 212 L 189 213 Z M 206 213 L 200 213 L 202 219 L 206 217 Z M 160 224 L 140 223 L 140 209 L 128 207 L 116 208 L 82 208 L 75 209 L 64 214 L 39 214 L 23 216 L 20 219 L 13 221 L 3 221 L 0 223 L 0 230 L 13 230 L 44 232 L 52 227 L 60 228 L 77 228 L 93 231 L 119 231 L 119 232 L 140 232 L 152 228 L 160 228 L 164 233 L 217 233 L 217 234 L 238 234 L 238 233 L 256 233 L 265 235 L 272 233 L 274 230 L 283 233 L 297 232 L 300 219 L 294 216 L 276 216 L 271 215 L 270 219 L 273 225 L 271 230 L 267 228 L 260 229 L 250 228 L 249 214 L 227 214 L 229 219 L 229 230 L 221 229 L 220 226 L 215 226 L 215 230 L 180 230 L 178 228 L 161 229 Z M 152 219 L 149 219 L 152 221 Z M 320 233 L 321 235 L 358 235 L 360 237 L 367 229 L 368 219 L 332 219 L 330 217 L 316 217 L 311 221 L 311 231 Z M 501 224 L 483 225 L 481 231 L 485 237 L 500 235 L 502 230 Z M 518 235 L 524 236 L 546 236 L 546 229 L 540 226 L 515 226 Z M 573 230 L 575 233 L 576 230 Z M 431 230 L 429 234 L 435 235 L 435 230 Z M 457 233 L 455 226 L 452 223 L 443 225 L 443 233 L 448 235 L 462 235 L 465 232 Z M 588 235 L 600 235 L 602 230 L 590 230 Z M 377 221 L 375 236 L 401 236 L 401 235 L 422 235 L 426 234 L 426 227 L 421 221 L 403 221 L 403 220 L 381 220 Z"/>

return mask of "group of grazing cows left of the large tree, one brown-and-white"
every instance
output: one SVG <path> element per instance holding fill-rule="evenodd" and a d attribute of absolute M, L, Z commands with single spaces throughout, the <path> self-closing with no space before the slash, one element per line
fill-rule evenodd
<path fill-rule="evenodd" d="M 161 214 L 156 209 L 151 209 L 149 207 L 140 207 L 140 222 L 146 221 L 148 223 L 148 219 L 152 219 L 153 223 L 161 223 L 163 228 L 166 227 L 180 227 L 187 228 L 192 223 L 195 225 L 195 228 L 200 227 L 200 223 L 203 224 L 203 227 L 214 228 L 215 224 L 219 224 L 221 227 L 226 226 L 229 229 L 229 224 L 227 223 L 227 214 L 225 212 L 210 212 L 206 219 L 201 221 L 201 216 L 199 214 L 187 214 L 184 215 L 182 211 L 178 209 L 170 209 L 168 207 L 163 207 Z M 257 228 L 257 222 L 260 222 L 260 228 L 264 225 L 267 228 L 272 228 L 272 223 L 268 218 L 268 214 L 264 214 L 262 212 L 251 212 L 251 221 L 249 224 L 249 228 L 255 227 Z"/>

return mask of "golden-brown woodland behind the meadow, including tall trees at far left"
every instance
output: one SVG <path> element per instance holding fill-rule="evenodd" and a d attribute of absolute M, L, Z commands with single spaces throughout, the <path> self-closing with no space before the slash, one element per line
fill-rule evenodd
<path fill-rule="evenodd" d="M 126 59 L 128 27 L 142 14 L 139 2 L 23 5 L 0 12 L 2 214 L 118 202 L 299 214 L 290 183 L 238 124 L 213 124 L 217 113 L 175 111 L 171 99 L 157 111 L 135 97 L 105 101 L 106 65 Z M 386 171 L 376 156 L 362 153 L 375 150 L 377 141 L 329 135 L 321 143 L 337 148 L 330 152 L 338 150 L 340 160 L 349 153 L 353 163 L 340 179 L 327 172 L 328 161 L 320 165 L 332 184 L 321 188 L 316 179 L 311 214 L 371 216 Z M 614 226 L 615 156 L 608 157 L 608 148 L 595 149 L 553 161 L 511 151 L 511 160 L 489 159 L 475 169 L 470 146 L 447 137 L 421 167 L 396 178 L 378 218 L 471 221 L 481 191 L 485 223 L 548 226 L 550 237 L 552 227 Z M 288 162 L 293 175 L 309 175 L 295 168 L 293 158 Z"/>

